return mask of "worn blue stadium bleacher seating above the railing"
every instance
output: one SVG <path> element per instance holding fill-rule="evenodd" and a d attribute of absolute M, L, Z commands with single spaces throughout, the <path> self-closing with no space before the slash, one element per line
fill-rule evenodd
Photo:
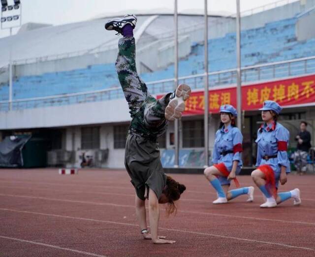
<path fill-rule="evenodd" d="M 296 18 L 265 24 L 264 27 L 241 32 L 242 66 L 272 63 L 315 55 L 315 38 L 297 41 L 295 36 Z M 226 70 L 236 67 L 235 33 L 209 39 L 209 71 Z M 204 46 L 193 43 L 191 53 L 179 62 L 179 76 L 204 72 Z M 315 62 L 314 62 L 315 63 Z M 314 72 L 312 68 L 308 72 Z M 172 78 L 174 65 L 163 70 L 143 73 L 144 81 Z M 292 75 L 298 75 L 293 70 Z M 260 74 L 268 79 L 270 72 Z M 281 77 L 281 72 L 276 77 Z M 234 81 L 231 81 L 234 82 Z M 211 78 L 210 78 L 211 83 Z M 36 76 L 22 76 L 13 80 L 13 99 L 54 96 L 70 93 L 102 90 L 119 86 L 115 64 L 90 65 L 84 69 L 44 73 Z M 200 87 L 203 83 L 200 83 Z M 8 84 L 0 85 L 0 100 L 8 100 Z"/>

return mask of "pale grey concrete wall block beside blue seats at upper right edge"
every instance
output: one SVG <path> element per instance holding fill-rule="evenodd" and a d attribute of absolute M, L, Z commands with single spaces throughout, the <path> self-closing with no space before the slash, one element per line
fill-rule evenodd
<path fill-rule="evenodd" d="M 301 17 L 295 25 L 295 34 L 299 41 L 315 37 L 315 11 Z"/>

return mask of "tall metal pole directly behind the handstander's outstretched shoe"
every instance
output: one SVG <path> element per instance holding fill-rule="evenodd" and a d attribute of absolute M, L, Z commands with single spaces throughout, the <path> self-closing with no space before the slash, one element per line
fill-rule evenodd
<path fill-rule="evenodd" d="M 174 89 L 176 90 L 178 84 L 178 17 L 177 17 L 177 0 L 174 0 L 174 23 L 175 23 L 175 49 L 174 49 Z M 175 143 L 175 160 L 174 160 L 174 167 L 177 168 L 179 166 L 179 120 L 175 119 L 174 121 L 174 143 Z"/>

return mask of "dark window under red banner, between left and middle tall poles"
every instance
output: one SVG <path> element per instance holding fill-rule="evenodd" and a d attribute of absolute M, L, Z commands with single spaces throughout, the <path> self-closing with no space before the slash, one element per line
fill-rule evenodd
<path fill-rule="evenodd" d="M 183 147 L 204 147 L 203 120 L 183 122 Z"/>

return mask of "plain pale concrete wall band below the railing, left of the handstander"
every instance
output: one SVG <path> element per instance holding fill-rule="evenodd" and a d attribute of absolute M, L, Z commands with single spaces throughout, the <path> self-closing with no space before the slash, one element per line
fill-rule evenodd
<path fill-rule="evenodd" d="M 0 129 L 51 128 L 76 125 L 127 122 L 125 98 L 0 112 Z"/>

